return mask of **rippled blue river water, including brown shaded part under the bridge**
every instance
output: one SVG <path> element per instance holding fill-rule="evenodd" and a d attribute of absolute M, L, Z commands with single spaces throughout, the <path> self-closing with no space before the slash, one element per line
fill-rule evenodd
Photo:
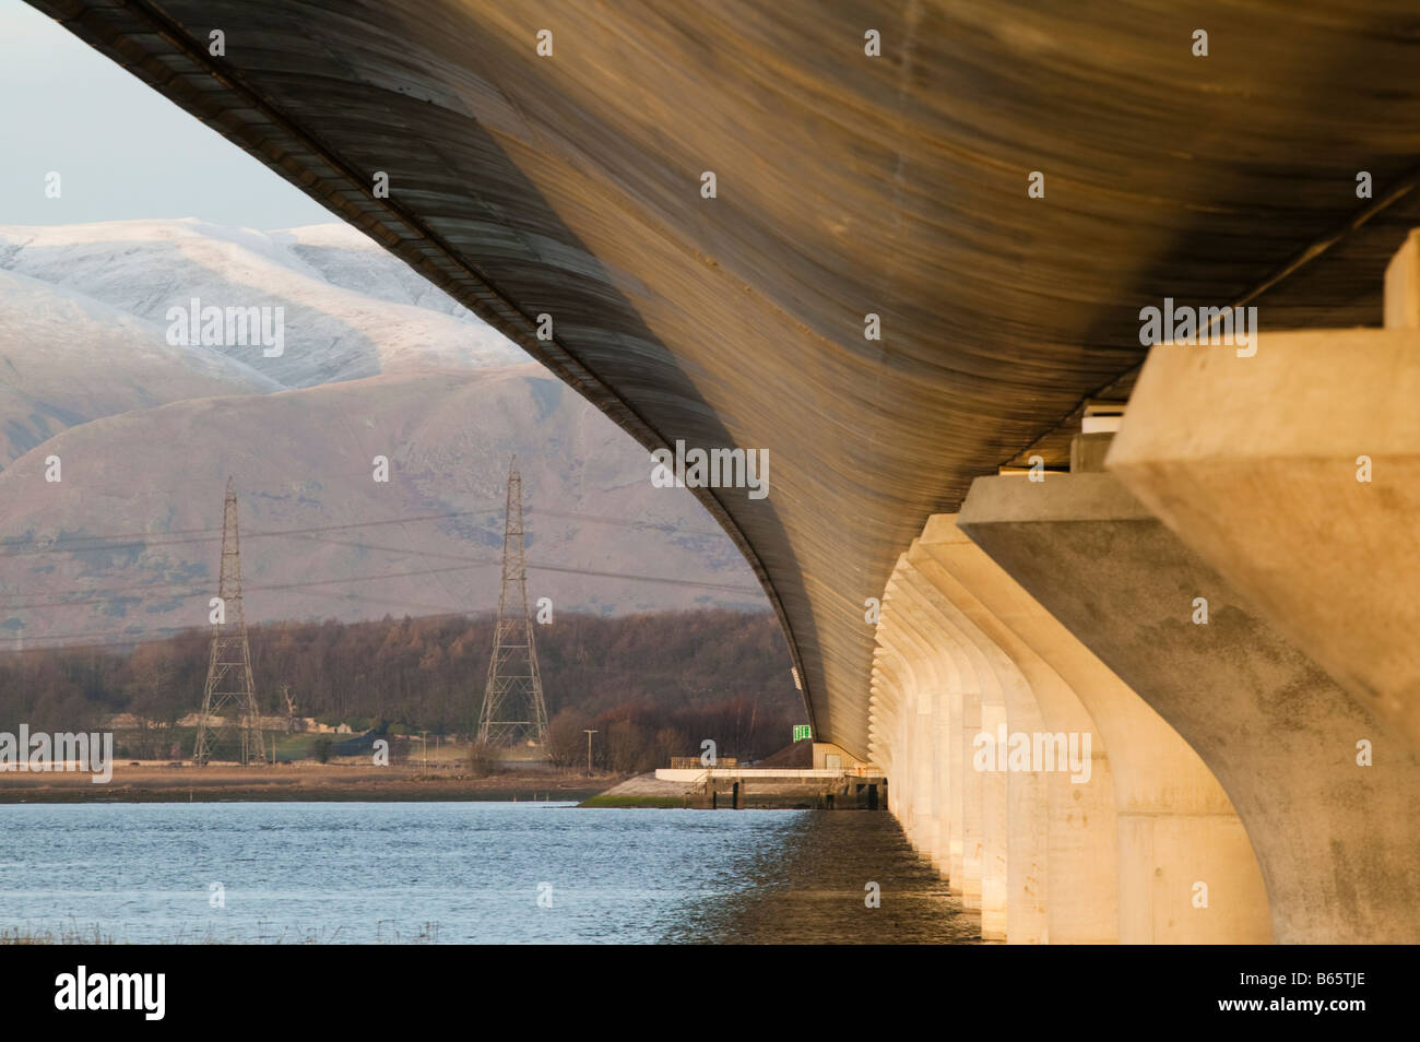
<path fill-rule="evenodd" d="M 0 835 L 0 930 L 10 933 L 168 944 L 960 944 L 980 930 L 888 813 L 10 805 Z"/>

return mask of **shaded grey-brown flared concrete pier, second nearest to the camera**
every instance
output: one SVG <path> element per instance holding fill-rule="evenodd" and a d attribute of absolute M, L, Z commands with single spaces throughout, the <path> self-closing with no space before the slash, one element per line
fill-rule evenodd
<path fill-rule="evenodd" d="M 1382 717 L 1109 474 L 980 478 L 958 525 L 1223 784 L 1262 869 L 1274 940 L 1420 940 L 1420 762 Z M 1194 622 L 1197 598 L 1207 623 Z M 1362 740 L 1372 767 L 1358 764 Z M 1208 907 L 1196 914 L 1247 914 L 1247 892 L 1207 869 L 1198 882 Z"/>

